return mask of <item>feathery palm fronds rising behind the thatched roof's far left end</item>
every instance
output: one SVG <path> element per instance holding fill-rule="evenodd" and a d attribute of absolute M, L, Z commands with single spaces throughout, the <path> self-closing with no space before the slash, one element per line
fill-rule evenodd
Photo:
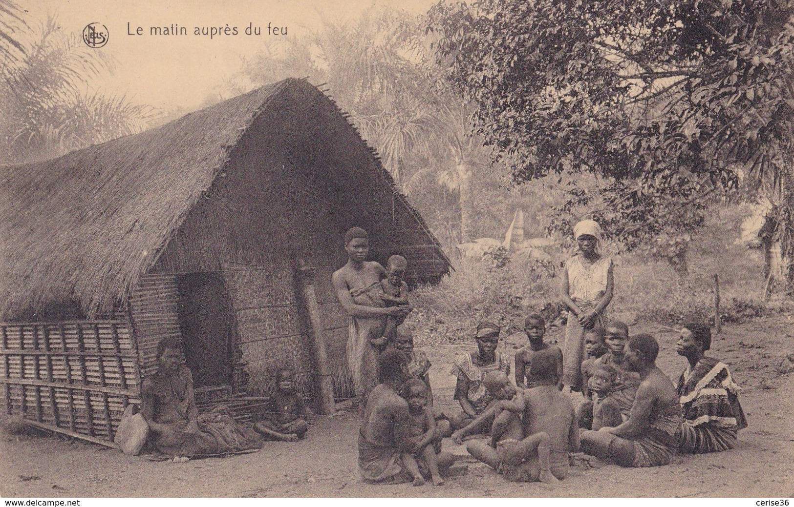
<path fill-rule="evenodd" d="M 81 89 L 79 83 L 112 69 L 112 61 L 79 36 L 60 36 L 45 21 L 21 57 L 4 67 L 0 83 L 0 142 L 6 163 L 58 156 L 89 144 L 140 132 L 152 108 L 124 96 Z"/>

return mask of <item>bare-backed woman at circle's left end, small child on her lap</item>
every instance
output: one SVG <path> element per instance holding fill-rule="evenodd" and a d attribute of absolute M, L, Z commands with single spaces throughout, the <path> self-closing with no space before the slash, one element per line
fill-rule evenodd
<path fill-rule="evenodd" d="M 408 379 L 407 358 L 402 351 L 387 348 L 378 357 L 383 383 L 372 390 L 364 410 L 364 424 L 358 435 L 358 470 L 368 484 L 400 484 L 413 482 L 402 454 L 416 454 L 423 442 L 411 436 L 408 402 L 399 395 L 400 386 Z M 423 477 L 430 478 L 430 470 L 421 455 L 414 457 Z M 444 474 L 453 463 L 449 452 L 439 452 L 436 464 Z"/>

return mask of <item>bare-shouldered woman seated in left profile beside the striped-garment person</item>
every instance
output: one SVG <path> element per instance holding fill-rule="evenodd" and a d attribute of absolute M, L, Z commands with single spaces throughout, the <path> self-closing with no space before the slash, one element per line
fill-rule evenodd
<path fill-rule="evenodd" d="M 673 459 L 681 425 L 681 405 L 673 382 L 656 366 L 659 344 L 653 336 L 633 336 L 626 346 L 626 366 L 640 375 L 640 385 L 626 422 L 582 433 L 582 450 L 621 467 L 657 467 Z"/>

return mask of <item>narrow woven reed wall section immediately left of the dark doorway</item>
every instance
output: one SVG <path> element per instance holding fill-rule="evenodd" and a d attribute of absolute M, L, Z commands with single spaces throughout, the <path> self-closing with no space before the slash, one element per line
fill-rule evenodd
<path fill-rule="evenodd" d="M 157 371 L 157 344 L 160 340 L 182 339 L 178 305 L 174 275 L 144 275 L 133 288 L 129 307 L 133 315 L 141 375 L 144 377 Z"/>

